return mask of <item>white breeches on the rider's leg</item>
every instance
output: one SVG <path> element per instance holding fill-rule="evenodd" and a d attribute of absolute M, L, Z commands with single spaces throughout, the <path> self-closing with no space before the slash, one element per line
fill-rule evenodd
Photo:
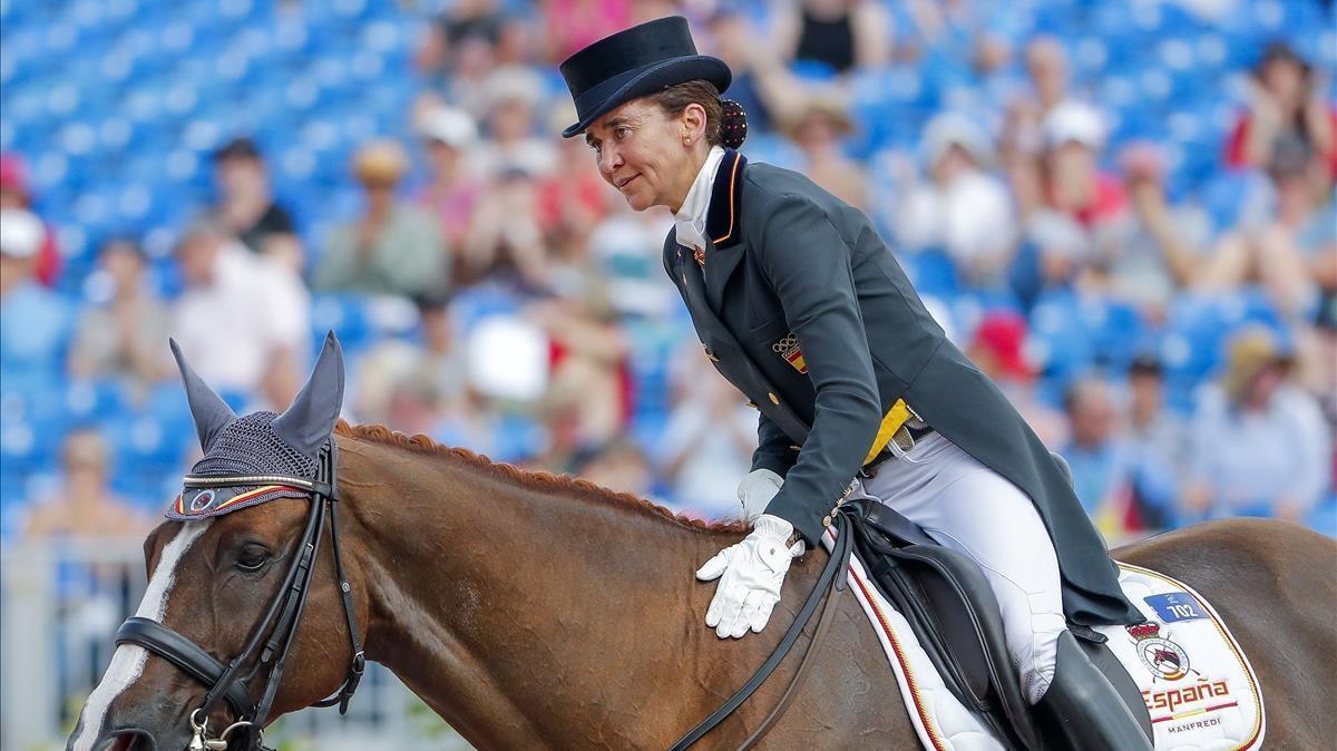
<path fill-rule="evenodd" d="M 984 569 L 999 608 L 1007 648 L 1034 704 L 1054 680 L 1059 635 L 1067 628 L 1054 543 L 1031 500 L 956 444 L 931 433 L 884 461 L 850 497 L 870 497 L 898 510 L 943 545 Z"/>

